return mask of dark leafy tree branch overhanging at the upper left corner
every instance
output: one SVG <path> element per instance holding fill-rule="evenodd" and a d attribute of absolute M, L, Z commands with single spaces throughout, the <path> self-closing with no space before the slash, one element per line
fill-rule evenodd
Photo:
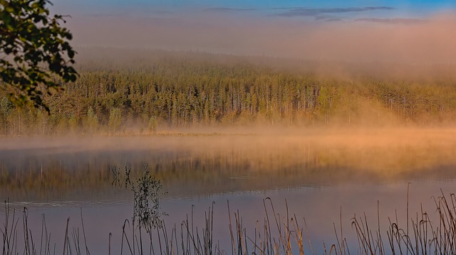
<path fill-rule="evenodd" d="M 46 0 L 0 0 L 0 87 L 18 105 L 43 107 L 43 92 L 62 89 L 53 79 L 73 82 L 76 51 L 63 16 L 50 16 Z"/>

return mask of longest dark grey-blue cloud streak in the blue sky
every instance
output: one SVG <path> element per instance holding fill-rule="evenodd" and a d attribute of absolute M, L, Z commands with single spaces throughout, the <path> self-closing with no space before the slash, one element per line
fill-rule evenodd
<path fill-rule="evenodd" d="M 284 13 L 277 13 L 275 16 L 295 17 L 295 16 L 318 16 L 326 13 L 352 13 L 363 11 L 390 11 L 393 7 L 388 6 L 368 6 L 368 7 L 349 7 L 349 8 L 291 8 Z"/>

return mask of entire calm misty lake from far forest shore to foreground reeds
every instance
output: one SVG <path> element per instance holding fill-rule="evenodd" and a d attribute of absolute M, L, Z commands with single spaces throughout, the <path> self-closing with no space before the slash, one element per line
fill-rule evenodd
<path fill-rule="evenodd" d="M 267 223 L 276 240 L 277 225 L 282 230 L 288 226 L 294 234 L 301 229 L 306 252 L 329 252 L 343 236 L 356 253 L 361 246 L 352 224 L 355 215 L 358 222 L 366 215 L 373 236 L 380 226 L 386 248 L 390 222 L 397 219 L 407 230 L 407 219 L 419 222 L 422 208 L 438 222 L 432 216 L 432 197 L 444 194 L 450 200 L 455 192 L 456 130 L 234 129 L 160 136 L 1 138 L 0 195 L 9 200 L 10 218 L 15 210 L 19 220 L 17 251 L 24 250 L 26 207 L 27 229 L 38 252 L 43 249 L 44 215 L 51 252 L 61 253 L 64 245 L 76 249 L 79 243 L 85 253 L 84 232 L 91 254 L 120 254 L 121 245 L 123 253 L 130 254 L 123 225 L 125 219 L 132 222 L 134 195 L 131 186 L 125 188 L 125 169 L 134 183 L 145 165 L 161 182 L 158 212 L 168 242 L 173 240 L 168 248 L 179 247 L 179 253 L 182 244 L 191 243 L 180 240 L 186 229 L 182 222 L 189 219 L 198 231 L 194 237 L 202 239 L 205 219 L 212 213 L 212 249 L 217 246 L 227 254 L 232 253 L 232 233 L 237 237 L 236 219 L 240 229 L 246 229 L 242 243 L 249 252 L 255 248 L 252 242 L 264 241 Z M 118 185 L 115 173 L 121 176 Z M 0 213 L 6 219 L 5 207 Z M 68 218 L 70 242 L 64 244 Z M 296 222 L 297 231 L 291 229 Z M 125 226 L 133 244 L 132 227 Z M 149 252 L 145 229 L 142 237 Z M 155 253 L 160 253 L 157 242 L 165 242 L 161 238 L 152 237 Z M 291 246 L 298 253 L 293 238 Z"/>

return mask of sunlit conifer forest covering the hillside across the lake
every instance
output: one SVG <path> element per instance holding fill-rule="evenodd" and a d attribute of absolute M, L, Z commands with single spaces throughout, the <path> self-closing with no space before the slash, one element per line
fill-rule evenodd
<path fill-rule="evenodd" d="M 196 54 L 196 53 L 195 53 Z M 322 77 L 239 61 L 163 57 L 81 63 L 81 77 L 44 102 L 15 107 L 0 92 L 0 134 L 153 133 L 199 125 L 450 124 L 454 80 Z"/>

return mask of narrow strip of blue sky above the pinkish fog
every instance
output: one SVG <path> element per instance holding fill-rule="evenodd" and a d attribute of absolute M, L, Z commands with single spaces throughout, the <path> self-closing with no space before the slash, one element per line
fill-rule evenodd
<path fill-rule="evenodd" d="M 309 9 L 343 9 L 343 8 L 364 8 L 372 6 L 390 7 L 391 11 L 385 12 L 388 16 L 390 13 L 398 15 L 404 13 L 412 16 L 427 16 L 432 13 L 447 11 L 456 8 L 454 0 L 415 0 L 415 1 L 379 1 L 379 0 L 351 0 L 351 1 L 258 1 L 258 0 L 59 0 L 55 1 L 58 11 L 76 11 L 77 13 L 111 13 L 120 11 L 130 11 L 141 13 L 142 11 L 152 12 L 175 12 L 182 13 L 186 11 L 198 11 L 207 8 L 226 8 L 232 11 L 242 9 L 252 11 L 252 13 L 266 15 L 274 13 L 283 13 L 283 9 L 290 8 L 309 8 Z M 281 10 L 282 9 L 282 10 Z"/>

